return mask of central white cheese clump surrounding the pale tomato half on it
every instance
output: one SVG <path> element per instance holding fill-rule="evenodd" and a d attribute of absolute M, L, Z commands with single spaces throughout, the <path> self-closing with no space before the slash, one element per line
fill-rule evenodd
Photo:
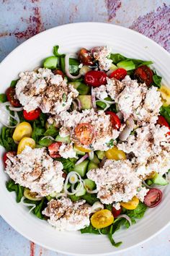
<path fill-rule="evenodd" d="M 61 113 L 62 126 L 70 129 L 71 140 L 81 145 L 81 142 L 76 138 L 74 129 L 78 124 L 88 123 L 94 128 L 94 139 L 91 142 L 90 148 L 92 150 L 108 150 L 110 148 L 110 140 L 115 140 L 120 131 L 112 128 L 110 116 L 106 115 L 104 111 L 94 112 L 94 109 L 84 110 L 82 113 L 73 111 L 71 113 Z M 88 148 L 85 145 L 81 145 Z"/>

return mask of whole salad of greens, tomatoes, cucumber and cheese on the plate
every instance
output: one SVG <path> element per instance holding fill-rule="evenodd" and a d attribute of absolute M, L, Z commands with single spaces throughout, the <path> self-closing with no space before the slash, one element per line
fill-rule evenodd
<path fill-rule="evenodd" d="M 128 229 L 164 197 L 170 89 L 152 61 L 107 46 L 58 53 L 0 94 L 6 188 L 58 230 Z"/>

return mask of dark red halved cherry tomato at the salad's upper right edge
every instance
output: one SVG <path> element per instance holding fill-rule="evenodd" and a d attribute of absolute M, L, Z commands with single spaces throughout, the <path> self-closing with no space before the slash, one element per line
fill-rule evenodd
<path fill-rule="evenodd" d="M 151 85 L 151 83 L 153 82 L 153 72 L 146 65 L 140 66 L 138 67 L 138 69 L 135 69 L 134 77 L 139 82 L 145 82 L 147 86 Z"/>

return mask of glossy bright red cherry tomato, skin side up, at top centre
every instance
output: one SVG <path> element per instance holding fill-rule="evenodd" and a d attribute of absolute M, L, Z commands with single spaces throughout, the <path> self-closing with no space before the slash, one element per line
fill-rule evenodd
<path fill-rule="evenodd" d="M 107 84 L 107 74 L 102 71 L 91 70 L 85 74 L 84 82 L 87 85 L 98 87 Z"/>

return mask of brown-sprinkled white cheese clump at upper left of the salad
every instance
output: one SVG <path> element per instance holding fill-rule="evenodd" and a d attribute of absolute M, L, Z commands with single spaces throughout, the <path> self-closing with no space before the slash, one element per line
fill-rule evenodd
<path fill-rule="evenodd" d="M 50 69 L 38 72 L 22 72 L 16 85 L 16 95 L 26 111 L 41 108 L 43 113 L 59 114 L 70 108 L 79 93 L 73 85 L 67 85 L 60 74 Z"/>

